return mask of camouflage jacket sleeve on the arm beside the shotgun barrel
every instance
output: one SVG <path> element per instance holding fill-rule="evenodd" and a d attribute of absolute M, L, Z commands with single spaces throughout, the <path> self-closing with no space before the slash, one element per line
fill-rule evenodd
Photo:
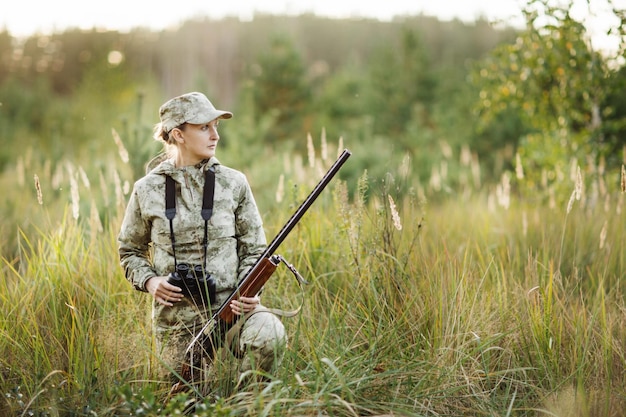
<path fill-rule="evenodd" d="M 239 256 L 238 280 L 240 281 L 267 247 L 263 221 L 247 180 L 242 187 L 239 207 L 235 215 L 237 255 Z"/>

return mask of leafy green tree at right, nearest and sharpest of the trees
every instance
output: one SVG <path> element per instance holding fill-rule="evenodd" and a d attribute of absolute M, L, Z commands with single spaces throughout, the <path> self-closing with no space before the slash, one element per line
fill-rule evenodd
<path fill-rule="evenodd" d="M 597 164 L 606 155 L 603 118 L 611 113 L 606 98 L 612 86 L 610 68 L 592 49 L 585 26 L 570 15 L 570 7 L 549 3 L 529 1 L 526 30 L 482 61 L 473 80 L 482 87 L 477 104 L 482 131 L 501 123 L 502 115 L 519 118 L 517 137 L 511 139 L 519 140 L 526 183 L 551 188 L 572 160 Z"/>

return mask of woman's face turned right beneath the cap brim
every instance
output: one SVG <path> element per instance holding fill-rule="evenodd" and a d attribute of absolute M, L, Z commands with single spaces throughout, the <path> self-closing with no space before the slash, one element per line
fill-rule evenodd
<path fill-rule="evenodd" d="M 217 142 L 220 135 L 217 133 L 219 119 L 206 124 L 185 124 L 182 128 L 172 130 L 178 144 L 177 166 L 195 165 L 203 159 L 215 156 Z"/>

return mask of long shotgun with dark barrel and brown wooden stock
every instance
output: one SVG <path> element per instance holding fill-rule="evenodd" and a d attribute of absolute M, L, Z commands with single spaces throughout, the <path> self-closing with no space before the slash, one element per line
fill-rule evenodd
<path fill-rule="evenodd" d="M 270 242 L 270 244 L 265 249 L 265 252 L 263 252 L 263 254 L 259 257 L 256 263 L 239 281 L 237 288 L 235 288 L 235 290 L 229 295 L 226 301 L 224 301 L 220 308 L 212 315 L 211 319 L 207 321 L 207 323 L 192 339 L 191 343 L 189 343 L 189 346 L 187 347 L 187 354 L 193 350 L 198 341 L 200 341 L 201 339 L 206 340 L 206 338 L 211 337 L 215 328 L 220 327 L 222 329 L 227 329 L 232 326 L 234 322 L 239 318 L 239 316 L 236 316 L 231 310 L 230 302 L 232 300 L 238 299 L 239 297 L 254 297 L 255 295 L 257 295 L 259 291 L 261 291 L 265 283 L 272 276 L 281 261 L 287 265 L 287 267 L 297 278 L 299 277 L 299 274 L 297 273 L 295 268 L 288 264 L 282 258 L 282 256 L 275 255 L 274 252 L 276 251 L 276 249 L 278 249 L 278 247 L 285 240 L 287 235 L 300 221 L 302 216 L 304 216 L 304 214 L 311 207 L 313 202 L 315 202 L 315 200 L 322 193 L 324 188 L 326 188 L 330 180 L 332 180 L 335 174 L 339 172 L 339 169 L 341 169 L 342 165 L 346 162 L 350 155 L 350 151 L 348 151 L 347 149 L 343 150 L 341 155 L 339 155 L 337 160 L 328 169 L 328 172 L 324 174 L 324 176 L 315 186 L 313 191 L 311 191 L 309 196 L 302 202 L 302 204 L 300 204 L 300 207 L 298 207 L 298 209 L 294 212 L 291 218 L 282 227 L 280 232 L 278 232 L 276 237 Z"/>

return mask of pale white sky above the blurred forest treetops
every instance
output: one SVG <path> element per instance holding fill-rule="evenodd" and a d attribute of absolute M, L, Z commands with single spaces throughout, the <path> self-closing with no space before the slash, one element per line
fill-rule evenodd
<path fill-rule="evenodd" d="M 567 0 L 554 0 L 567 1 Z M 622 9 L 626 0 L 574 0 L 573 15 L 584 19 L 596 47 L 610 48 L 602 33 L 607 27 L 608 2 Z M 473 21 L 483 16 L 521 22 L 525 0 L 2 0 L 0 28 L 14 36 L 50 33 L 68 27 L 128 30 L 133 27 L 175 27 L 192 17 L 238 16 L 250 19 L 255 12 L 300 14 L 311 12 L 333 17 L 369 17 L 389 20 L 396 15 L 420 13 L 442 20 Z M 7 4 L 8 3 L 8 4 Z M 590 10 L 590 7 L 592 8 Z M 615 22 L 610 22 L 615 24 Z"/>

